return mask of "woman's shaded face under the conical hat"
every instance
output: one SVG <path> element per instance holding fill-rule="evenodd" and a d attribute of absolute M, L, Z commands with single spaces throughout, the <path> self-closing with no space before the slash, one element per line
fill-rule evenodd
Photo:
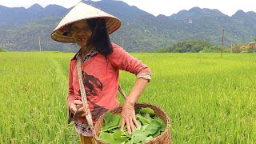
<path fill-rule="evenodd" d="M 74 22 L 71 26 L 70 34 L 79 46 L 86 46 L 86 43 L 91 35 L 90 26 L 85 20 Z"/>

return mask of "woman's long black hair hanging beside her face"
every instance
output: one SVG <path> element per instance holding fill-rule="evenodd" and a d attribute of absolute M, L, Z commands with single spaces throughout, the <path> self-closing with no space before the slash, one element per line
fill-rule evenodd
<path fill-rule="evenodd" d="M 110 37 L 106 29 L 106 22 L 103 18 L 94 18 L 86 20 L 92 34 L 87 42 L 87 46 L 94 47 L 105 57 L 113 52 Z"/>

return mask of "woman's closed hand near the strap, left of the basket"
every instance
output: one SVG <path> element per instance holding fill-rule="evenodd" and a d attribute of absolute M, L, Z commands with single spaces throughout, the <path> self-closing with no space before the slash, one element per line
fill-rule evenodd
<path fill-rule="evenodd" d="M 78 110 L 77 110 L 77 106 L 81 106 Z M 89 105 L 83 103 L 80 100 L 74 100 L 73 102 L 70 103 L 70 112 L 75 114 L 74 118 L 78 118 L 78 117 L 86 117 L 87 110 L 89 110 Z"/>

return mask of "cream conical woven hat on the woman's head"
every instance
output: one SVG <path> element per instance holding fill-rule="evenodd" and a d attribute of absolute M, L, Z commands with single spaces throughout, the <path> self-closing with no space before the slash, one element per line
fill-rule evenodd
<path fill-rule="evenodd" d="M 78 22 L 83 19 L 104 18 L 106 21 L 106 29 L 111 34 L 121 26 L 121 21 L 111 14 L 99 10 L 93 6 L 79 2 L 64 18 L 59 22 L 58 26 L 51 33 L 51 38 L 58 42 L 74 42 L 70 36 L 67 26 L 70 23 Z"/>

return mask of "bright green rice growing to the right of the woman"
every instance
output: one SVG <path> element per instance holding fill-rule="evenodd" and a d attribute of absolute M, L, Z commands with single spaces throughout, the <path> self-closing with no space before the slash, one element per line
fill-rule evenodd
<path fill-rule="evenodd" d="M 133 55 L 152 71 L 139 102 L 166 111 L 174 143 L 256 142 L 255 54 Z M 133 75 L 121 76 L 128 93 Z"/>

